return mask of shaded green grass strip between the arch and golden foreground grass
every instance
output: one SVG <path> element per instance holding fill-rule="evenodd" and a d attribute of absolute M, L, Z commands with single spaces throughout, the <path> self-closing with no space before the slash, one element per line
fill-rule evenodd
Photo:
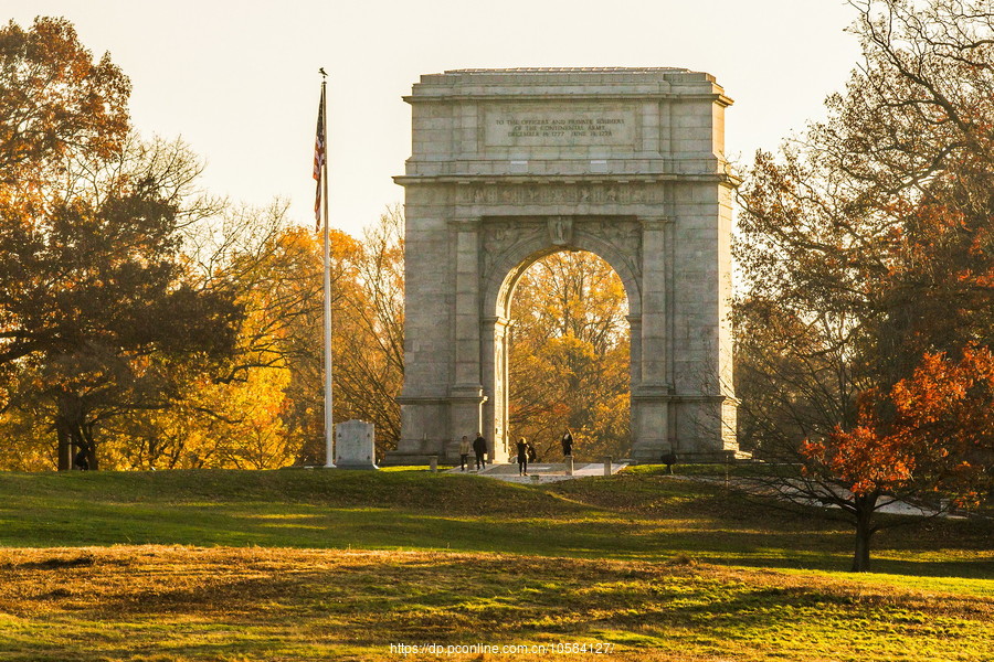
<path fill-rule="evenodd" d="M 875 569 L 992 574 L 992 527 L 875 538 Z M 448 549 L 844 569 L 852 533 L 652 470 L 552 485 L 423 471 L 0 473 L 0 546 Z"/>

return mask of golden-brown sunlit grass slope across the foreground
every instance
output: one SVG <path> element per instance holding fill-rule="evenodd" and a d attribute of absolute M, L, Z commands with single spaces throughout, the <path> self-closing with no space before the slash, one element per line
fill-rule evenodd
<path fill-rule="evenodd" d="M 880 578 L 880 576 L 875 576 Z M 980 661 L 991 581 L 505 554 L 0 549 L 4 660 L 392 660 L 390 644 L 610 644 L 558 659 Z M 409 660 L 549 655 L 409 655 Z"/>

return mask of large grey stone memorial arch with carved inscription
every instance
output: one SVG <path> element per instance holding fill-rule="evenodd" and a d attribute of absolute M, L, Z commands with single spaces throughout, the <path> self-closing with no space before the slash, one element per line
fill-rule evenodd
<path fill-rule="evenodd" d="M 736 449 L 725 96 L 680 68 L 466 70 L 422 76 L 405 174 L 401 439 L 387 463 L 508 456 L 515 286 L 589 250 L 624 282 L 632 458 Z"/>

